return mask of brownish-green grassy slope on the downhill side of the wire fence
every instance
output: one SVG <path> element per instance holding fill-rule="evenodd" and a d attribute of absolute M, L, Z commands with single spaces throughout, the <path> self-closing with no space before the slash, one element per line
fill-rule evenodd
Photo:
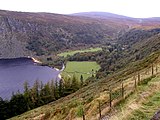
<path fill-rule="evenodd" d="M 131 80 L 133 79 L 135 73 L 137 73 L 139 70 L 142 70 L 142 74 L 146 74 L 146 72 L 143 73 L 144 67 L 144 70 L 148 71 L 148 68 L 150 68 L 150 63 L 155 61 L 158 56 L 159 53 L 152 54 L 150 57 L 140 62 L 136 62 L 134 65 L 132 65 L 132 67 L 127 67 L 124 71 L 115 73 L 105 79 L 78 90 L 74 94 L 61 98 L 48 105 L 39 107 L 35 110 L 26 112 L 12 119 L 75 119 L 79 116 L 78 111 L 81 109 L 81 105 L 85 108 L 85 116 L 87 119 L 98 119 L 98 101 L 101 101 L 102 110 L 109 106 L 109 86 L 113 85 L 115 88 L 121 87 L 121 82 L 118 81 L 124 79 L 126 81 L 124 86 L 126 86 L 125 89 L 127 89 L 127 94 L 130 93 L 130 91 L 134 90 L 133 88 L 130 88 L 130 85 L 133 85 L 134 87 L 134 81 L 132 82 Z M 151 74 L 148 75 L 150 76 Z M 116 81 L 117 84 L 114 84 Z M 113 96 L 116 97 L 116 94 L 117 93 L 115 91 Z M 104 111 L 106 111 L 106 109 L 104 109 Z M 104 113 L 106 114 L 106 112 Z"/>

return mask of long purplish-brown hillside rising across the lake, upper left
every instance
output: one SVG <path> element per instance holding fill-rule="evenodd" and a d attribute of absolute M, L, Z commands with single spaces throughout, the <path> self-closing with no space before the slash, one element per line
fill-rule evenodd
<path fill-rule="evenodd" d="M 128 26 L 51 13 L 0 11 L 0 57 L 47 55 L 100 44 Z"/>

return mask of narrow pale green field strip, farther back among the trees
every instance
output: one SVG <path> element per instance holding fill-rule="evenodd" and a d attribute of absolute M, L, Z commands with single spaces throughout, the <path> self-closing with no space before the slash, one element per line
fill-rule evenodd
<path fill-rule="evenodd" d="M 62 56 L 62 57 L 67 57 L 67 55 L 74 55 L 76 53 L 82 53 L 82 52 L 96 52 L 96 51 L 101 51 L 102 48 L 89 48 L 89 49 L 85 49 L 85 50 L 75 50 L 75 51 L 68 51 L 68 52 L 63 52 L 63 53 L 60 53 L 58 54 L 58 56 Z"/>

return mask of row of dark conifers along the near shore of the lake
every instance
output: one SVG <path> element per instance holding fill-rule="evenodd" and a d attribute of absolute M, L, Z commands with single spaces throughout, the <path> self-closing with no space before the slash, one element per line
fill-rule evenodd
<path fill-rule="evenodd" d="M 29 84 L 25 82 L 23 93 L 20 93 L 20 91 L 13 93 L 10 100 L 3 100 L 0 97 L 0 120 L 5 120 L 55 101 L 77 91 L 82 86 L 82 75 L 80 81 L 75 75 L 72 78 L 65 78 L 65 80 L 51 80 L 47 84 L 36 80 L 33 87 L 29 87 Z"/>

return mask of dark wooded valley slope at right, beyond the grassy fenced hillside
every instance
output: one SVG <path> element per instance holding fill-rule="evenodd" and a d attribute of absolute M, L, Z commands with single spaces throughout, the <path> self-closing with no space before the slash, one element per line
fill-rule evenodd
<path fill-rule="evenodd" d="M 101 53 L 102 55 L 97 60 L 101 66 L 99 74 L 104 76 L 159 51 L 160 29 L 131 29 L 115 41 L 117 41 L 116 44 L 105 48 L 105 52 Z"/>

